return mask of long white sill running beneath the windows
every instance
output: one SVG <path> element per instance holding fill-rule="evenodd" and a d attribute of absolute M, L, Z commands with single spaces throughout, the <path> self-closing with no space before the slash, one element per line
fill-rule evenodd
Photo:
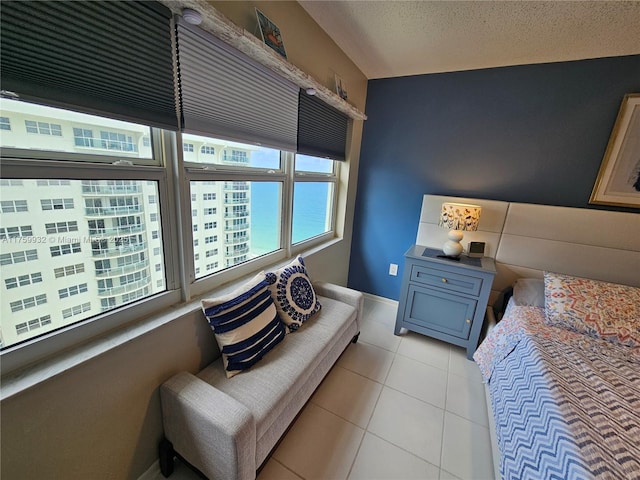
<path fill-rule="evenodd" d="M 327 242 L 323 242 L 320 245 L 316 245 L 304 252 L 300 252 L 303 257 L 313 255 L 325 248 L 339 243 L 341 239 L 334 238 Z M 287 265 L 291 261 L 291 258 L 275 262 L 269 266 L 270 270 L 276 270 Z M 93 341 L 75 347 L 64 353 L 54 355 L 46 360 L 38 362 L 34 365 L 25 367 L 23 369 L 10 372 L 6 376 L 2 377 L 2 389 L 0 389 L 0 400 L 6 400 L 11 398 L 27 389 L 37 386 L 38 384 L 45 382 L 51 378 L 63 374 L 84 362 L 87 362 L 93 358 L 103 355 L 115 348 L 118 348 L 136 338 L 146 335 L 154 330 L 166 325 L 177 318 L 184 315 L 194 313 L 201 309 L 200 300 L 207 296 L 224 295 L 232 292 L 239 286 L 247 282 L 255 271 L 250 275 L 242 276 L 235 279 L 220 288 L 206 292 L 199 295 L 197 298 L 182 304 L 173 305 L 160 313 L 153 314 L 147 317 L 145 320 L 136 322 L 133 325 L 120 328 L 111 334 L 102 336 Z"/>

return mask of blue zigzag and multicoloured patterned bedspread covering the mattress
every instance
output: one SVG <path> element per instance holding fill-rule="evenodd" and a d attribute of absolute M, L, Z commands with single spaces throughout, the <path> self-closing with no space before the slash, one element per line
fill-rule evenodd
<path fill-rule="evenodd" d="M 640 479 L 640 349 L 510 303 L 474 358 L 505 480 Z"/>

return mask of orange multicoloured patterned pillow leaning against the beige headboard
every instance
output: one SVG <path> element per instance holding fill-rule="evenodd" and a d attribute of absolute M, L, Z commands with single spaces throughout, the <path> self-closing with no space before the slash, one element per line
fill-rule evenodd
<path fill-rule="evenodd" d="M 545 322 L 640 346 L 640 288 L 545 272 Z"/>

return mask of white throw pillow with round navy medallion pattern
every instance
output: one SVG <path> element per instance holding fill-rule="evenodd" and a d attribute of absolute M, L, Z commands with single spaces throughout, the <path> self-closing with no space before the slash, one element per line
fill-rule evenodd
<path fill-rule="evenodd" d="M 286 267 L 267 273 L 267 281 L 278 314 L 291 332 L 322 308 L 301 256 Z"/>

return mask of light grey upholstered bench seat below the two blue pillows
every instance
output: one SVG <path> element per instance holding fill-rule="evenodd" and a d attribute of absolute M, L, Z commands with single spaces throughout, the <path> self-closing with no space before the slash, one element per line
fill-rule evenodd
<path fill-rule="evenodd" d="M 295 335 L 269 353 L 269 359 L 233 380 L 225 377 L 222 362 L 215 361 L 198 373 L 205 382 L 235 398 L 252 411 L 258 439 L 282 415 L 326 351 L 338 342 L 346 346 L 356 331 L 356 309 L 320 297 L 322 311 Z M 348 335 L 349 338 L 345 338 Z"/>

